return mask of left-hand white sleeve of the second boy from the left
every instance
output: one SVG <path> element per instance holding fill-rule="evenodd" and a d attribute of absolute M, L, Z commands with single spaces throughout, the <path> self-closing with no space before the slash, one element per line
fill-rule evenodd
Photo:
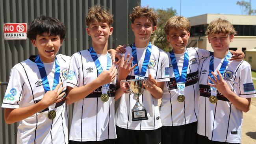
<path fill-rule="evenodd" d="M 69 74 L 67 78 L 67 86 L 75 88 L 79 87 L 79 62 L 76 57 L 76 54 L 72 55 L 70 59 L 70 64 L 69 64 Z"/>

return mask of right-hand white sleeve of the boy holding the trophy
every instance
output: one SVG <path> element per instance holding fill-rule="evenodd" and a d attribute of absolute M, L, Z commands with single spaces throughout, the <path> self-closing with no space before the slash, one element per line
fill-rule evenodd
<path fill-rule="evenodd" d="M 161 70 L 159 71 L 160 74 L 158 74 L 156 81 L 170 81 L 168 55 L 165 52 L 161 51 L 160 57 L 162 57 Z"/>

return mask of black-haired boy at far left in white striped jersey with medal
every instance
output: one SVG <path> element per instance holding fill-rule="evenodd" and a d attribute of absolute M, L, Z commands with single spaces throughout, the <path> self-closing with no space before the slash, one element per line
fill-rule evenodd
<path fill-rule="evenodd" d="M 7 124 L 20 121 L 17 144 L 68 143 L 68 112 L 61 92 L 70 57 L 56 55 L 65 34 L 64 24 L 52 17 L 39 16 L 29 26 L 27 36 L 39 55 L 13 66 L 2 104 Z"/>

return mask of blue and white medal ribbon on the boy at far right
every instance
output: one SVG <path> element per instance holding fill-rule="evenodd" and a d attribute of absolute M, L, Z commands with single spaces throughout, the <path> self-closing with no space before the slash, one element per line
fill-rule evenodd
<path fill-rule="evenodd" d="M 221 64 L 221 68 L 219 70 L 219 72 L 221 73 L 221 76 L 223 75 L 223 73 L 226 70 L 226 66 L 228 65 L 228 59 L 230 59 L 230 57 L 232 56 L 232 54 L 228 51 L 228 54 L 226 55 L 226 57 L 224 58 L 224 61 Z M 214 79 L 213 75 L 211 74 L 211 72 L 214 72 L 214 55 L 211 56 L 211 60 L 210 60 L 210 66 L 209 66 L 209 76 Z M 217 78 L 219 78 L 219 75 L 217 76 Z M 214 84 L 211 80 L 210 80 L 211 84 Z M 211 96 L 217 96 L 217 89 L 215 87 L 211 87 Z"/>

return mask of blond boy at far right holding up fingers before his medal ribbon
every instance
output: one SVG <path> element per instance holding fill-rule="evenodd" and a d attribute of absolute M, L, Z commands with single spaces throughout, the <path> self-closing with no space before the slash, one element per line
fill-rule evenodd
<path fill-rule="evenodd" d="M 243 112 L 256 97 L 250 64 L 228 61 L 233 42 L 232 24 L 221 18 L 210 22 L 206 35 L 214 54 L 200 63 L 198 113 L 199 144 L 241 144 Z"/>

